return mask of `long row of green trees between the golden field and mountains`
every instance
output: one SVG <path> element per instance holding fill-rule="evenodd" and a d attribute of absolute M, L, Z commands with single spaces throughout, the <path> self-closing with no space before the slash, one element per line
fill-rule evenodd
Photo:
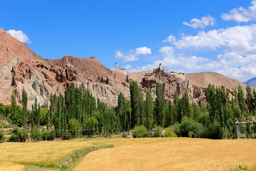
<path fill-rule="evenodd" d="M 27 123 L 30 123 L 33 130 L 32 138 L 33 132 L 38 132 L 40 125 L 46 125 L 47 130 L 54 129 L 54 135 L 61 138 L 93 134 L 111 135 L 136 126 L 145 126 L 151 130 L 157 126 L 174 125 L 180 130 L 177 132 L 178 136 L 189 136 L 186 134 L 193 134 L 193 131 L 197 132 L 198 136 L 198 128 L 201 129 L 201 125 L 204 125 L 205 129 L 208 129 L 204 137 L 211 138 L 206 134 L 213 134 L 212 130 L 217 130 L 222 138 L 234 138 L 235 121 L 247 121 L 248 124 L 243 129 L 246 130 L 248 137 L 252 137 L 249 116 L 251 119 L 256 114 L 256 91 L 252 91 L 249 85 L 246 91 L 245 98 L 239 85 L 235 90 L 235 98 L 232 97 L 230 100 L 228 90 L 209 84 L 205 89 L 208 101 L 208 106 L 205 107 L 202 103 L 190 104 L 187 89 L 181 99 L 175 92 L 173 102 L 165 101 L 160 82 L 156 85 L 156 99 L 153 100 L 151 90 L 147 89 L 143 100 L 142 88 L 135 81 L 131 81 L 130 101 L 126 102 L 124 94 L 120 93 L 118 105 L 108 108 L 105 103 L 96 100 L 89 90 L 68 87 L 64 97 L 61 94 L 51 94 L 51 106 L 43 115 L 37 99 L 32 105 L 32 111 L 27 110 L 27 93 L 23 89 L 22 108 L 16 105 L 13 91 L 12 105 L 5 108 L 1 105 L 0 112 L 9 112 L 9 118 L 13 123 L 23 125 L 25 129 Z"/>

